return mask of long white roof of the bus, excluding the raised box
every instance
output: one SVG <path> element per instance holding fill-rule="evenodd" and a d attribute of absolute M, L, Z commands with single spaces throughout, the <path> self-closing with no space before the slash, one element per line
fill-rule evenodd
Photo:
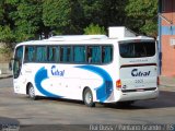
<path fill-rule="evenodd" d="M 57 45 L 57 44 L 115 44 L 117 41 L 125 40 L 154 40 L 151 37 L 137 36 L 137 37 L 124 37 L 124 38 L 109 38 L 105 35 L 71 35 L 71 36 L 54 36 L 43 40 L 30 40 L 18 44 L 20 45 Z"/>

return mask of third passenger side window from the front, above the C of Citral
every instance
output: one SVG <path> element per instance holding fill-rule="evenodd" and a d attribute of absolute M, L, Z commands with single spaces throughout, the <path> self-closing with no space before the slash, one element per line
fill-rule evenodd
<path fill-rule="evenodd" d="M 49 62 L 58 62 L 59 60 L 59 49 L 55 46 L 49 46 L 47 49 L 47 60 Z"/>

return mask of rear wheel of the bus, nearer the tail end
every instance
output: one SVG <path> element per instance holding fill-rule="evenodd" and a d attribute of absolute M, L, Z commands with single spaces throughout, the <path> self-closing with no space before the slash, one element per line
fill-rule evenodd
<path fill-rule="evenodd" d="M 93 94 L 90 88 L 85 88 L 83 93 L 83 100 L 88 107 L 95 107 L 95 103 L 93 102 Z"/>

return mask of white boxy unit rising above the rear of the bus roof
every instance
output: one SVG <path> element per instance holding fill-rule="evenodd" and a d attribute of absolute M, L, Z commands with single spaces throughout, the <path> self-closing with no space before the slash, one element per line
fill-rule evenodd
<path fill-rule="evenodd" d="M 125 26 L 114 26 L 108 28 L 109 38 L 136 37 L 137 34 Z"/>

